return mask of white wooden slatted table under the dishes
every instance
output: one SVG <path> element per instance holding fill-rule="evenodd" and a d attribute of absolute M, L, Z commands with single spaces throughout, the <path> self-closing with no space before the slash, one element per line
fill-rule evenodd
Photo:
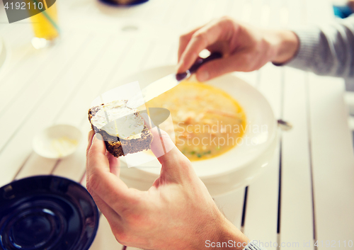
<path fill-rule="evenodd" d="M 9 25 L 0 4 L 0 35 L 11 50 L 0 72 L 0 186 L 40 174 L 84 185 L 86 142 L 57 161 L 33 152 L 33 136 L 56 123 L 76 125 L 86 135 L 93 98 L 129 74 L 176 64 L 182 32 L 224 15 L 273 28 L 333 19 L 326 0 L 150 0 L 127 8 L 94 0 L 57 4 L 62 42 L 42 51 L 30 45 L 29 21 Z M 354 244 L 354 154 L 343 81 L 271 64 L 235 74 L 261 90 L 276 116 L 294 128 L 282 133 L 268 171 L 246 189 L 216 197 L 217 205 L 267 249 L 316 249 L 316 241 L 318 249 L 327 249 L 326 241 L 349 249 L 349 241 Z M 91 249 L 122 249 L 103 216 Z"/>

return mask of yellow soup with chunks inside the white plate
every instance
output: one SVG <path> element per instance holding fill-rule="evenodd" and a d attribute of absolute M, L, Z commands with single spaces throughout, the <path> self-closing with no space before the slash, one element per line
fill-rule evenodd
<path fill-rule="evenodd" d="M 191 161 L 223 154 L 244 135 L 246 115 L 239 103 L 207 84 L 183 81 L 146 106 L 171 112 L 176 146 Z"/>

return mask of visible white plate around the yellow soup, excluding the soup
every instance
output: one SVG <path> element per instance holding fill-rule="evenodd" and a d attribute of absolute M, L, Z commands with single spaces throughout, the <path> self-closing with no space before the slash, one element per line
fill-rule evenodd
<path fill-rule="evenodd" d="M 144 88 L 153 81 L 173 73 L 175 69 L 175 66 L 149 69 L 130 76 L 121 83 L 139 81 L 140 86 Z M 248 125 L 244 140 L 253 138 L 253 142 L 258 142 L 257 144 L 239 144 L 219 157 L 192 162 L 195 171 L 204 181 L 210 193 L 217 195 L 245 186 L 261 172 L 264 166 L 268 165 L 277 144 L 278 130 L 270 104 L 250 84 L 232 74 L 207 81 L 206 84 L 226 91 L 240 103 L 246 113 Z M 258 131 L 256 131 L 257 127 Z M 262 128 L 263 132 L 261 132 Z M 143 161 L 148 163 L 142 164 L 138 168 L 122 167 L 121 176 L 128 186 L 146 189 L 159 175 L 161 166 L 151 154 L 140 152 L 136 154 L 136 157 L 145 157 L 146 159 Z M 122 157 L 122 162 L 124 164 L 124 157 Z"/>

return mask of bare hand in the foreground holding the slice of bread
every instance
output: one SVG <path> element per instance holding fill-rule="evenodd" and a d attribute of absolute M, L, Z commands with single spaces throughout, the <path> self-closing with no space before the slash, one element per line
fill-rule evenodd
<path fill-rule="evenodd" d="M 227 237 L 247 242 L 217 209 L 190 161 L 166 132 L 149 130 L 152 152 L 161 163 L 148 191 L 128 188 L 119 178 L 118 159 L 107 153 L 100 134 L 89 134 L 87 189 L 120 244 L 142 249 L 204 249 L 205 241 Z M 164 144 L 164 147 L 161 147 Z M 166 150 L 170 149 L 170 150 Z"/>

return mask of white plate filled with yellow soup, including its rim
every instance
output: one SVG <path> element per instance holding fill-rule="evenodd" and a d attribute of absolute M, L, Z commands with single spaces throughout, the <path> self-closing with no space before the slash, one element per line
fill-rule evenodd
<path fill-rule="evenodd" d="M 139 81 L 143 89 L 175 69 L 149 69 L 121 83 Z M 248 185 L 273 158 L 278 142 L 273 110 L 257 89 L 233 74 L 205 83 L 189 79 L 149 101 L 145 108 L 170 110 L 159 127 L 191 160 L 212 195 Z M 127 168 L 122 157 L 121 178 L 130 187 L 146 190 L 159 176 L 161 165 L 152 152 L 134 157 L 144 163 Z"/>

